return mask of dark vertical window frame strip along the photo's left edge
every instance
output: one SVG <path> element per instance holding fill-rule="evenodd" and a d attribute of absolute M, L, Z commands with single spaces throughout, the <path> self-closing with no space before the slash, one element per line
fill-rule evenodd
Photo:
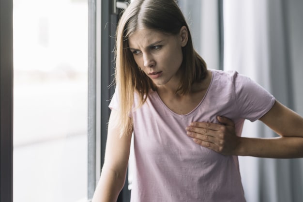
<path fill-rule="evenodd" d="M 0 202 L 13 202 L 13 0 L 0 1 Z"/>

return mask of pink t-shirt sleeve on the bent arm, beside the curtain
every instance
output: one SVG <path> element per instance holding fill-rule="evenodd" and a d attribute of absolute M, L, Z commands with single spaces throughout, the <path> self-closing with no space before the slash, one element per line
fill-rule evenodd
<path fill-rule="evenodd" d="M 273 95 L 252 79 L 234 72 L 233 82 L 240 117 L 254 122 L 273 107 Z"/>

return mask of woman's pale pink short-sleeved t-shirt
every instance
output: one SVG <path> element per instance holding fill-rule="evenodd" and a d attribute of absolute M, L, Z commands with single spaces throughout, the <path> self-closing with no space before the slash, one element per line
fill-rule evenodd
<path fill-rule="evenodd" d="M 212 70 L 201 102 L 179 115 L 156 92 L 132 112 L 135 166 L 132 202 L 245 202 L 237 156 L 220 155 L 186 135 L 191 122 L 218 123 L 226 116 L 241 136 L 245 119 L 255 121 L 269 111 L 275 98 L 250 78 L 235 71 Z M 138 104 L 135 95 L 134 106 Z M 119 110 L 118 95 L 109 105 Z"/>

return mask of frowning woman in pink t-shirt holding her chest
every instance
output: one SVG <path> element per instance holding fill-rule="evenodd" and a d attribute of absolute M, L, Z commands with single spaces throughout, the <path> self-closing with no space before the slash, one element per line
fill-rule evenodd
<path fill-rule="evenodd" d="M 174 0 L 134 0 L 117 30 L 106 157 L 93 202 L 114 202 L 133 133 L 132 202 L 245 202 L 237 155 L 303 157 L 303 118 L 237 72 L 207 70 Z M 242 138 L 244 120 L 280 138 Z"/>

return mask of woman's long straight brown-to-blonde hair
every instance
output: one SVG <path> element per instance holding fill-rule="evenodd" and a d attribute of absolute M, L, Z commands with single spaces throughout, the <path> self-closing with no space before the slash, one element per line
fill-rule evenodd
<path fill-rule="evenodd" d="M 118 23 L 116 41 L 116 75 L 115 81 L 120 97 L 120 121 L 121 134 L 132 129 L 130 113 L 134 103 L 134 93 L 138 93 L 141 106 L 147 99 L 151 90 L 156 86 L 152 80 L 142 72 L 129 50 L 128 37 L 138 28 L 162 31 L 175 35 L 182 26 L 188 30 L 188 42 L 182 47 L 183 61 L 181 65 L 182 75 L 179 88 L 176 93 L 188 93 L 192 84 L 203 80 L 206 76 L 206 63 L 197 54 L 193 47 L 189 27 L 175 0 L 134 0 L 123 12 Z M 137 107 L 139 107 L 137 106 Z"/>

